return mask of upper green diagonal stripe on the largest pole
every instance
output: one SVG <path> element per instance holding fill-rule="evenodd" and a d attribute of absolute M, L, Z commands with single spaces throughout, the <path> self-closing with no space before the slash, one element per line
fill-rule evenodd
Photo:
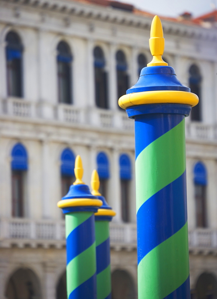
<path fill-rule="evenodd" d="M 185 122 L 160 136 L 136 158 L 136 211 L 186 169 Z"/>

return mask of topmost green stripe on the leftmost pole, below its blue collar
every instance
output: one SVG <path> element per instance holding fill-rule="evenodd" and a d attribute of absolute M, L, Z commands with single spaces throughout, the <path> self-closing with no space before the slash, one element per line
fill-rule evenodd
<path fill-rule="evenodd" d="M 87 220 L 92 212 L 73 212 L 66 214 L 66 238 L 81 223 Z"/>

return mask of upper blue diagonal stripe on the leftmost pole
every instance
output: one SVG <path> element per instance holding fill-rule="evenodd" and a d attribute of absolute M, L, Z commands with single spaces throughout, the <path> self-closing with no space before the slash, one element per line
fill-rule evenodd
<path fill-rule="evenodd" d="M 78 225 L 66 239 L 67 264 L 95 242 L 94 214 Z"/>

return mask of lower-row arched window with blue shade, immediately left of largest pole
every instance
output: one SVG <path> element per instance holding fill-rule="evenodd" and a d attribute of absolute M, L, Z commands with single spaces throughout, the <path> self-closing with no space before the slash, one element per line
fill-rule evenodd
<path fill-rule="evenodd" d="M 119 167 L 120 167 L 120 181 L 121 181 L 122 220 L 124 222 L 129 222 L 130 221 L 129 192 L 130 192 L 130 180 L 131 180 L 131 162 L 128 155 L 126 154 L 120 155 Z"/>

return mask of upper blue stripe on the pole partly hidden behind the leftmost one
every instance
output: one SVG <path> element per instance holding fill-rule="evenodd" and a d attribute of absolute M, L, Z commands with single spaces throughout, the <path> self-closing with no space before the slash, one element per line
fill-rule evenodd
<path fill-rule="evenodd" d="M 110 265 L 110 238 L 96 247 L 96 274 Z"/>

